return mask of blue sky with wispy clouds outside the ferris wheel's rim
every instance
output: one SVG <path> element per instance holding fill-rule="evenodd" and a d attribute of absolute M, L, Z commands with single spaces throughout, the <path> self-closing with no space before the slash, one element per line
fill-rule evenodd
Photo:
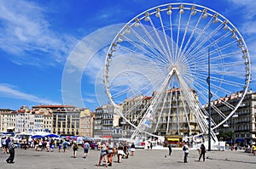
<path fill-rule="evenodd" d="M 95 110 L 108 102 L 102 66 L 120 27 L 148 8 L 196 3 L 230 20 L 244 37 L 256 73 L 256 2 L 53 0 L 0 1 L 0 108 L 73 104 Z M 84 54 L 76 55 L 83 46 Z M 74 76 L 67 76 L 74 72 Z M 256 82 L 251 82 L 256 91 Z"/>

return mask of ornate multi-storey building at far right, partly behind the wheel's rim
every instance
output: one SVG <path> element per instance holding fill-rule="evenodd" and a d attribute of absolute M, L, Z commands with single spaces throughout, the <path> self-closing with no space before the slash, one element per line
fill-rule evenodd
<path fill-rule="evenodd" d="M 236 105 L 240 100 L 241 93 L 232 93 L 230 96 L 224 98 L 225 102 Z M 218 106 L 219 110 L 222 110 L 224 115 L 229 115 L 231 110 L 219 100 L 213 101 L 215 106 Z M 212 119 L 219 123 L 223 119 L 220 118 L 218 113 L 212 110 Z M 231 143 L 236 144 L 252 144 L 256 142 L 256 93 L 252 90 L 248 91 L 243 99 L 240 107 L 235 112 L 235 115 L 231 116 L 226 123 L 218 127 L 216 132 L 234 132 L 234 138 L 230 138 Z"/>

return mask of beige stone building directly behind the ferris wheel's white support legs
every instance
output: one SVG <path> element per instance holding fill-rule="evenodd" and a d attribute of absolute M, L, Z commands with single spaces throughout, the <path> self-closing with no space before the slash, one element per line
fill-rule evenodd
<path fill-rule="evenodd" d="M 195 100 L 198 101 L 198 96 L 195 91 L 192 90 Z M 154 112 L 151 113 L 152 120 L 150 121 L 150 127 L 148 125 L 148 132 L 157 136 L 166 135 L 189 135 L 197 134 L 200 129 L 195 122 L 195 116 L 189 105 L 185 104 L 186 100 L 181 94 L 179 88 L 172 88 L 164 93 L 165 99 L 158 99 L 157 103 L 154 104 Z M 143 121 L 143 117 L 147 110 L 151 106 L 151 102 L 157 97 L 157 93 L 153 93 L 151 97 L 139 96 L 134 99 L 125 99 L 122 104 L 123 114 L 126 119 L 133 123 L 135 126 L 139 125 Z M 188 118 L 187 118 L 188 116 Z M 189 119 L 189 121 L 188 121 Z M 131 137 L 134 132 L 132 127 L 125 119 L 121 119 L 121 127 L 125 131 L 125 136 Z"/>

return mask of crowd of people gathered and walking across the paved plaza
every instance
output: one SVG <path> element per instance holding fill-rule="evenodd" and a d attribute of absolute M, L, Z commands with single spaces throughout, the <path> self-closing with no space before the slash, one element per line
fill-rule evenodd
<path fill-rule="evenodd" d="M 20 149 L 28 149 L 32 148 L 35 151 L 48 151 L 53 152 L 54 149 L 57 149 L 58 152 L 63 153 L 67 152 L 67 149 L 73 149 L 73 158 L 77 157 L 77 152 L 82 148 L 84 152 L 84 158 L 87 158 L 90 149 L 99 150 L 99 161 L 97 166 L 112 166 L 113 165 L 113 157 L 117 158 L 117 162 L 121 163 L 122 159 L 128 159 L 129 155 L 133 156 L 135 153 L 135 144 L 130 144 L 125 141 L 113 141 L 111 139 L 108 140 L 83 140 L 82 143 L 77 143 L 74 139 L 66 139 L 66 138 L 33 138 L 32 140 L 23 139 L 20 144 L 15 145 L 14 139 L 9 137 L 1 138 L 0 140 L 0 148 L 2 149 L 2 153 L 9 154 L 9 158 L 6 160 L 8 163 L 14 163 L 15 159 L 15 148 L 18 147 Z M 152 149 L 152 144 L 148 143 L 146 145 L 148 149 Z M 168 144 L 168 153 L 172 154 L 172 144 Z M 234 148 L 236 150 L 236 148 Z M 233 150 L 233 149 L 231 149 Z M 199 159 L 198 161 L 205 161 L 206 147 L 204 144 L 201 144 L 199 151 Z M 184 159 L 183 162 L 188 162 L 189 156 L 189 143 L 183 143 L 183 152 Z M 251 148 L 251 153 L 256 155 L 256 146 L 253 144 Z"/>

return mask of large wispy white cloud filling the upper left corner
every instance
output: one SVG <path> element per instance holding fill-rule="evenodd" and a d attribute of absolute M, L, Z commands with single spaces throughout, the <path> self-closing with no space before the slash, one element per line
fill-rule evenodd
<path fill-rule="evenodd" d="M 30 65 L 41 65 L 43 59 L 51 60 L 51 65 L 66 59 L 61 55 L 68 54 L 73 47 L 69 44 L 76 39 L 52 31 L 46 12 L 32 2 L 0 1 L 0 48 L 13 55 L 9 59 Z M 42 58 L 43 54 L 48 55 Z"/>

